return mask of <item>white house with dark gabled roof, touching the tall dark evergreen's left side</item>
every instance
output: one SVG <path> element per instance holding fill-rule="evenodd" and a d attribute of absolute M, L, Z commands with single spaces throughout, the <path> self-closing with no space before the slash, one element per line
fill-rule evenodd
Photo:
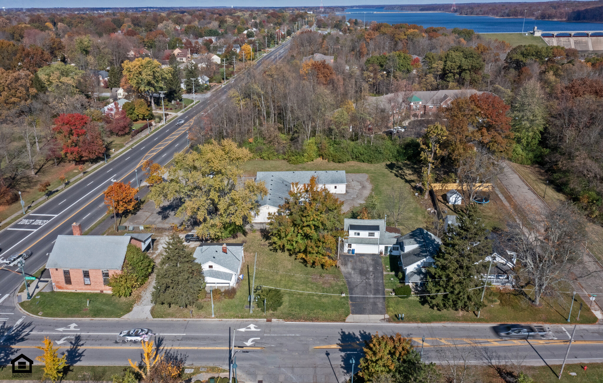
<path fill-rule="evenodd" d="M 442 244 L 440 238 L 423 228 L 418 228 L 398 238 L 396 244 L 400 246 L 404 282 L 407 285 L 423 284 L 425 268 L 433 266 L 434 256 Z"/>

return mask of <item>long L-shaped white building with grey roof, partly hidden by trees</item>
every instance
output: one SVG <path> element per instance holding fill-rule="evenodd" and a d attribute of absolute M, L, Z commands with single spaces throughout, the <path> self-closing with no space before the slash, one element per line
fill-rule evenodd
<path fill-rule="evenodd" d="M 253 222 L 268 222 L 268 213 L 279 211 L 279 205 L 289 198 L 289 191 L 295 187 L 309 184 L 312 176 L 317 177 L 318 187 L 326 188 L 333 194 L 346 193 L 345 170 L 306 170 L 294 172 L 257 172 L 256 182 L 264 181 L 268 195 L 259 201 L 260 211 Z"/>

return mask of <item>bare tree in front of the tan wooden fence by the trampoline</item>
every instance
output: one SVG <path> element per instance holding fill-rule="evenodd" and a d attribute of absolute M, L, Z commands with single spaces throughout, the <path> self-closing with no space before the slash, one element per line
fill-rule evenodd
<path fill-rule="evenodd" d="M 456 168 L 459 187 L 467 201 L 473 201 L 479 193 L 490 190 L 497 176 L 502 174 L 503 167 L 487 148 L 478 147 Z"/>

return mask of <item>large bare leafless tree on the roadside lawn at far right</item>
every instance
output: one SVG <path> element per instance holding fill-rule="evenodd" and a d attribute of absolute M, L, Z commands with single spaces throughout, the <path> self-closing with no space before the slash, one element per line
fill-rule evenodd
<path fill-rule="evenodd" d="M 572 267 L 581 261 L 584 225 L 579 212 L 569 203 L 561 204 L 538 219 L 533 226 L 519 226 L 511 231 L 511 244 L 522 267 L 518 275 L 534 305 L 540 305 L 545 292 L 554 291 L 559 282 L 569 281 Z"/>

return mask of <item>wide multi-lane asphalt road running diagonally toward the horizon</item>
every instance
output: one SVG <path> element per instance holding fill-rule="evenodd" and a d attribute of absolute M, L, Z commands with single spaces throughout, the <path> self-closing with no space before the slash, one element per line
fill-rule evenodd
<path fill-rule="evenodd" d="M 276 63 L 289 49 L 290 43 L 291 40 L 288 40 L 265 54 L 260 58 L 259 66 Z M 188 148 L 188 129 L 194 117 L 207 113 L 223 102 L 235 82 L 236 77 L 178 117 L 185 120 L 182 126 L 176 126 L 178 119 L 172 120 L 147 139 L 0 231 L 0 258 L 6 259 L 29 250 L 32 255 L 25 261 L 25 273 L 36 272 L 48 260 L 47 254 L 51 252 L 57 235 L 71 235 L 71 224 L 74 222 L 81 223 L 85 231 L 107 213 L 102 193 L 112 182 L 131 182 L 136 185 L 136 176 L 139 182 L 145 179 L 144 172 L 140 170 L 143 161 L 153 160 L 163 166 L 174 153 Z M 22 284 L 23 277 L 17 271 L 17 267 L 9 266 L 0 269 L 0 299 L 13 293 Z"/>

